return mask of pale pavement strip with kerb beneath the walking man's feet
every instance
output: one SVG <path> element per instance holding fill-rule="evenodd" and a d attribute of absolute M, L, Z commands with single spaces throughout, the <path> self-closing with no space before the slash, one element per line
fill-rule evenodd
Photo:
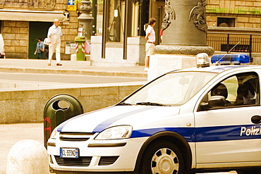
<path fill-rule="evenodd" d="M 61 61 L 63 66 L 56 66 L 56 61 L 47 66 L 45 59 L 0 59 L 0 73 L 51 73 L 68 75 L 102 75 L 122 77 L 147 77 L 144 66 L 102 67 L 90 66 L 90 61 Z"/>

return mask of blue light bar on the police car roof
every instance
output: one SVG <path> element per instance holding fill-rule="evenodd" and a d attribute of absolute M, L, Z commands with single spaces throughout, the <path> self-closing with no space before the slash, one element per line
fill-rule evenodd
<path fill-rule="evenodd" d="M 211 63 L 220 64 L 241 64 L 249 62 L 250 56 L 248 56 L 248 54 L 216 54 L 211 58 Z"/>

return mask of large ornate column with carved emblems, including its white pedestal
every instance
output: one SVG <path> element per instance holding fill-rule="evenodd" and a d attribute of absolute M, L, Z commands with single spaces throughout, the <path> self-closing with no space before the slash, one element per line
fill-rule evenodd
<path fill-rule="evenodd" d="M 214 54 L 207 46 L 207 0 L 165 0 L 162 44 L 150 57 L 148 80 L 170 70 L 196 67 L 195 55 Z"/>

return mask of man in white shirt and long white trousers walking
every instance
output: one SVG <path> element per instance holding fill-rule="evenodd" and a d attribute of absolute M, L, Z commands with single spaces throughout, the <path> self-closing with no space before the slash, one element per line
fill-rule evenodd
<path fill-rule="evenodd" d="M 56 66 L 61 66 L 61 36 L 63 33 L 61 32 L 60 21 L 58 19 L 54 20 L 54 25 L 51 25 L 48 30 L 47 37 L 49 39 L 49 58 L 48 58 L 48 66 L 51 66 L 51 58 L 54 54 L 54 50 L 56 51 Z"/>

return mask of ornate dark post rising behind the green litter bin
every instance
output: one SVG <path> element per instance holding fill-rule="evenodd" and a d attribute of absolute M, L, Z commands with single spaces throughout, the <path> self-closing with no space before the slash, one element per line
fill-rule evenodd
<path fill-rule="evenodd" d="M 90 36 L 92 35 L 92 20 L 93 17 L 90 14 L 92 11 L 92 4 L 88 0 L 83 0 L 82 5 L 80 6 L 80 16 L 78 17 L 79 20 L 79 27 L 83 27 L 83 37 L 90 42 Z"/>

